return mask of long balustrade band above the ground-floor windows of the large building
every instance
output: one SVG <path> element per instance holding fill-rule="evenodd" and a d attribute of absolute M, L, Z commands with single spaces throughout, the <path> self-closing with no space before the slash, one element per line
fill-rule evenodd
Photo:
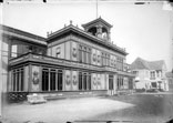
<path fill-rule="evenodd" d="M 42 54 L 34 54 L 31 52 L 22 54 L 18 58 L 10 59 L 9 64 L 12 65 L 12 64 L 20 63 L 22 61 L 23 62 L 24 61 L 45 62 L 45 63 L 53 63 L 53 64 L 71 66 L 71 68 L 82 68 L 82 69 L 90 69 L 90 70 L 98 70 L 98 71 L 118 72 L 115 68 L 109 66 L 109 65 L 94 65 L 94 64 L 89 64 L 89 63 L 81 63 L 79 61 L 71 61 L 71 60 L 48 57 L 48 55 L 42 55 Z M 122 72 L 130 73 L 126 70 L 123 70 Z"/>

